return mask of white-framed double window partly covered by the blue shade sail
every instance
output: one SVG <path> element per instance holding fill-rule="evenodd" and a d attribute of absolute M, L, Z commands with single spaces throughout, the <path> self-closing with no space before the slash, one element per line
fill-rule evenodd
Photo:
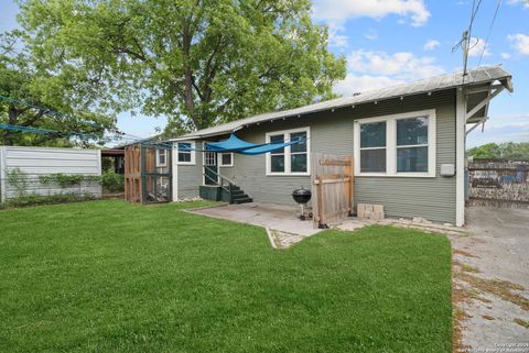
<path fill-rule="evenodd" d="M 309 128 L 267 133 L 267 143 L 299 143 L 267 153 L 267 175 L 309 175 L 310 173 Z"/>

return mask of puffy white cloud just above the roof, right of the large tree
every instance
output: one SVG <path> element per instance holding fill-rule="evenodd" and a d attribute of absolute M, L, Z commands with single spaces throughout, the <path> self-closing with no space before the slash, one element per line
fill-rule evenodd
<path fill-rule="evenodd" d="M 347 56 L 347 77 L 334 86 L 334 91 L 350 96 L 444 73 L 433 57 L 417 57 L 412 53 L 371 52 L 359 49 Z"/>

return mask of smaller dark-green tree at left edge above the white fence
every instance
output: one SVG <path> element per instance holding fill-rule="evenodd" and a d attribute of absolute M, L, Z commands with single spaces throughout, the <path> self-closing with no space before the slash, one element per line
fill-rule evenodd
<path fill-rule="evenodd" d="M 0 122 L 102 137 L 106 130 L 115 128 L 115 119 L 101 110 L 90 111 L 96 102 L 95 92 L 90 95 L 87 89 L 94 87 L 80 77 L 67 67 L 56 67 L 53 73 L 40 68 L 32 60 L 21 33 L 3 33 L 0 37 Z M 63 134 L 0 131 L 0 145 L 13 144 L 68 146 L 73 141 Z"/>

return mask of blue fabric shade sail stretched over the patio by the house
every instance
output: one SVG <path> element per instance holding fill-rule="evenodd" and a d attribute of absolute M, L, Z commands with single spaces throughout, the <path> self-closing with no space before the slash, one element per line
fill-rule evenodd
<path fill-rule="evenodd" d="M 192 147 L 179 146 L 180 151 L 198 151 L 198 152 L 217 152 L 217 153 L 239 153 L 245 155 L 258 155 L 268 152 L 278 151 L 287 146 L 301 143 L 305 140 L 296 140 L 284 143 L 251 143 L 240 140 L 235 134 L 231 134 L 228 140 L 220 142 L 205 143 L 206 150 L 197 150 Z"/>

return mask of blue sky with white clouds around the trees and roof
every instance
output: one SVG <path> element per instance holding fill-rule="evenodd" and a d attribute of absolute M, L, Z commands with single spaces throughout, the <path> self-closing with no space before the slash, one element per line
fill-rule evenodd
<path fill-rule="evenodd" d="M 477 2 L 477 1 L 476 1 Z M 18 7 L 0 0 L 0 31 L 17 26 Z M 462 52 L 452 53 L 468 26 L 472 0 L 313 0 L 314 21 L 330 26 L 330 49 L 347 58 L 342 95 L 421 79 L 462 68 Z M 496 0 L 483 0 L 473 27 L 469 67 L 503 64 L 514 76 L 515 92 L 490 104 L 485 132 L 475 130 L 467 144 L 529 142 L 529 5 L 501 0 L 489 33 Z M 488 36 L 488 42 L 486 38 Z M 483 53 L 483 55 L 482 55 Z M 165 119 L 130 113 L 118 117 L 127 133 L 149 136 Z"/>

